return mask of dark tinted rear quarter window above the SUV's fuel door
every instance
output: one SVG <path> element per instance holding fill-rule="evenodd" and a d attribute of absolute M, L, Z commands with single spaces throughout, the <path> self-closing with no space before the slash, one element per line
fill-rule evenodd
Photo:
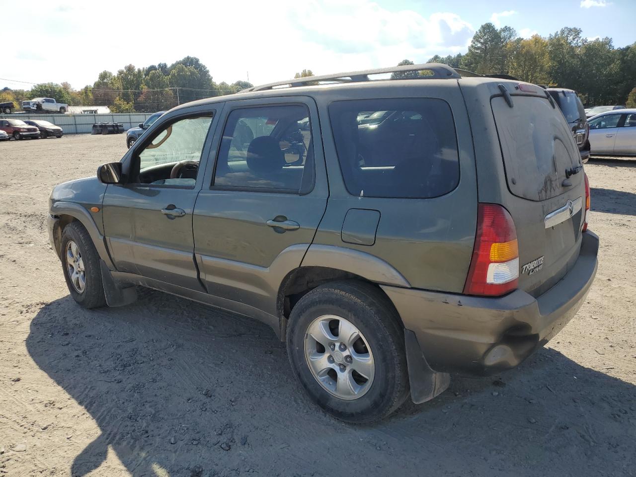
<path fill-rule="evenodd" d="M 444 100 L 336 101 L 329 119 L 350 194 L 432 198 L 457 187 L 457 135 Z"/>

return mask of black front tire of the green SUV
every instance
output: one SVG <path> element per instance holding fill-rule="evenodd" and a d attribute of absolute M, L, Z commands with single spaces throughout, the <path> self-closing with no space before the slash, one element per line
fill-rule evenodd
<path fill-rule="evenodd" d="M 76 245 L 79 259 L 81 259 L 81 270 L 83 270 L 83 287 L 81 279 L 76 280 L 69 275 L 69 268 L 77 269 L 78 263 L 73 264 L 73 259 L 69 254 L 69 249 L 73 251 L 73 245 Z M 106 296 L 104 296 L 104 285 L 102 284 L 102 275 L 99 266 L 99 255 L 95 245 L 86 232 L 86 229 L 79 222 L 71 222 L 64 227 L 62 231 L 62 248 L 61 248 L 62 270 L 66 286 L 71 292 L 73 300 L 75 300 L 83 308 L 97 308 L 106 305 Z M 81 273 L 80 273 L 81 275 Z M 75 276 L 75 275 L 73 275 Z M 79 285 L 79 286 L 78 286 Z"/>

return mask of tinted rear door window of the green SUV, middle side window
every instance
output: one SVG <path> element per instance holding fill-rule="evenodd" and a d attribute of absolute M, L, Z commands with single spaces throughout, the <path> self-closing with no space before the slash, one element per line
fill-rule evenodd
<path fill-rule="evenodd" d="M 314 163 L 307 106 L 235 109 L 223 130 L 212 186 L 298 192 Z"/>

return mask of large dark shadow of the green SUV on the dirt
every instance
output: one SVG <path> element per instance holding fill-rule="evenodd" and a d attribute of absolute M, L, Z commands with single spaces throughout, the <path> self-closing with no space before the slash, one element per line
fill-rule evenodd
<path fill-rule="evenodd" d="M 128 307 L 93 311 L 60 298 L 34 317 L 26 345 L 100 428 L 74 457 L 73 476 L 99 467 L 108 448 L 135 477 L 563 477 L 636 468 L 636 387 L 552 349 L 354 426 L 310 404 L 269 328 L 169 294 L 144 291 Z"/>

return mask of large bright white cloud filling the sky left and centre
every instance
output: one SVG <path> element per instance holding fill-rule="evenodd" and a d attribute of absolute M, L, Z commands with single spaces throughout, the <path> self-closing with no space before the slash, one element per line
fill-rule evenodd
<path fill-rule="evenodd" d="M 81 88 L 104 69 L 116 73 L 131 63 L 170 64 L 190 55 L 210 69 L 214 81 L 247 79 L 249 71 L 249 81 L 257 84 L 293 78 L 303 68 L 326 74 L 404 59 L 425 62 L 466 51 L 474 33 L 455 13 L 424 16 L 373 0 L 278 0 L 275 8 L 244 0 L 239 10 L 231 2 L 177 6 L 156 0 L 132 24 L 122 10 L 99 2 L 63 3 L 51 10 L 47 0 L 30 0 L 29 22 L 9 22 L 4 37 L 29 41 L 20 43 L 19 54 L 3 57 L 3 78 L 69 81 Z M 40 45 L 55 45 L 64 54 L 37 61 Z"/>

